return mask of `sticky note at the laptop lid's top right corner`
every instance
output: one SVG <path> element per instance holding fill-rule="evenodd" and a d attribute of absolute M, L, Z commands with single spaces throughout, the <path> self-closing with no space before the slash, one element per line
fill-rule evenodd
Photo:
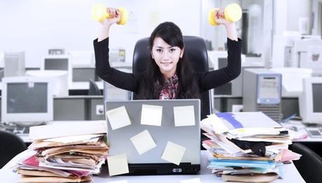
<path fill-rule="evenodd" d="M 193 105 L 174 107 L 174 126 L 195 126 Z"/>

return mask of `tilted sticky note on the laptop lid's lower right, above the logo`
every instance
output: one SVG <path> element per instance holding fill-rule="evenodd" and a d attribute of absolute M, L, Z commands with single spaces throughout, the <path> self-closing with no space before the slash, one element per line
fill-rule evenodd
<path fill-rule="evenodd" d="M 161 156 L 161 159 L 164 159 L 165 161 L 169 161 L 170 163 L 174 163 L 179 166 L 185 152 L 186 147 L 168 141 L 167 146 L 165 147 L 165 151 Z"/>

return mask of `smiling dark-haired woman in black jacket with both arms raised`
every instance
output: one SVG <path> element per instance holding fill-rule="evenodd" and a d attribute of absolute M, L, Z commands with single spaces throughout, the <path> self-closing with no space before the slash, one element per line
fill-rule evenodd
<path fill-rule="evenodd" d="M 139 75 L 123 73 L 109 64 L 109 29 L 120 21 L 120 12 L 107 8 L 112 18 L 102 22 L 102 33 L 94 40 L 96 71 L 111 85 L 136 93 L 135 99 L 200 98 L 201 92 L 224 85 L 237 78 L 241 70 L 241 40 L 235 23 L 223 19 L 223 10 L 216 13 L 216 22 L 228 34 L 228 66 L 216 71 L 195 73 L 184 52 L 179 27 L 164 22 L 154 29 L 149 39 L 151 60 Z"/>

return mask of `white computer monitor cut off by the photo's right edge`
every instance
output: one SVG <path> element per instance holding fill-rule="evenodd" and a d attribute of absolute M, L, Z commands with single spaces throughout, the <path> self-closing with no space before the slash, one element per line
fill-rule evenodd
<path fill-rule="evenodd" d="M 304 78 L 303 94 L 299 97 L 303 123 L 322 124 L 322 78 Z"/>

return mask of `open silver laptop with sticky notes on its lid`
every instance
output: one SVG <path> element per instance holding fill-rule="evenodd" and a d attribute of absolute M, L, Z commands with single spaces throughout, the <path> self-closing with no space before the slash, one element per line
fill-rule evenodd
<path fill-rule="evenodd" d="M 161 126 L 141 124 L 142 105 L 162 106 Z M 195 126 L 174 126 L 174 107 L 193 105 Z M 137 100 L 137 101 L 106 101 L 106 111 L 125 106 L 131 125 L 120 129 L 111 129 L 106 117 L 109 143 L 109 156 L 127 154 L 129 175 L 162 175 L 162 174 L 195 174 L 200 171 L 200 100 Z M 139 154 L 130 138 L 144 130 L 153 137 L 157 147 Z M 177 166 L 161 159 L 162 153 L 171 141 L 186 147 L 186 152 Z"/>

